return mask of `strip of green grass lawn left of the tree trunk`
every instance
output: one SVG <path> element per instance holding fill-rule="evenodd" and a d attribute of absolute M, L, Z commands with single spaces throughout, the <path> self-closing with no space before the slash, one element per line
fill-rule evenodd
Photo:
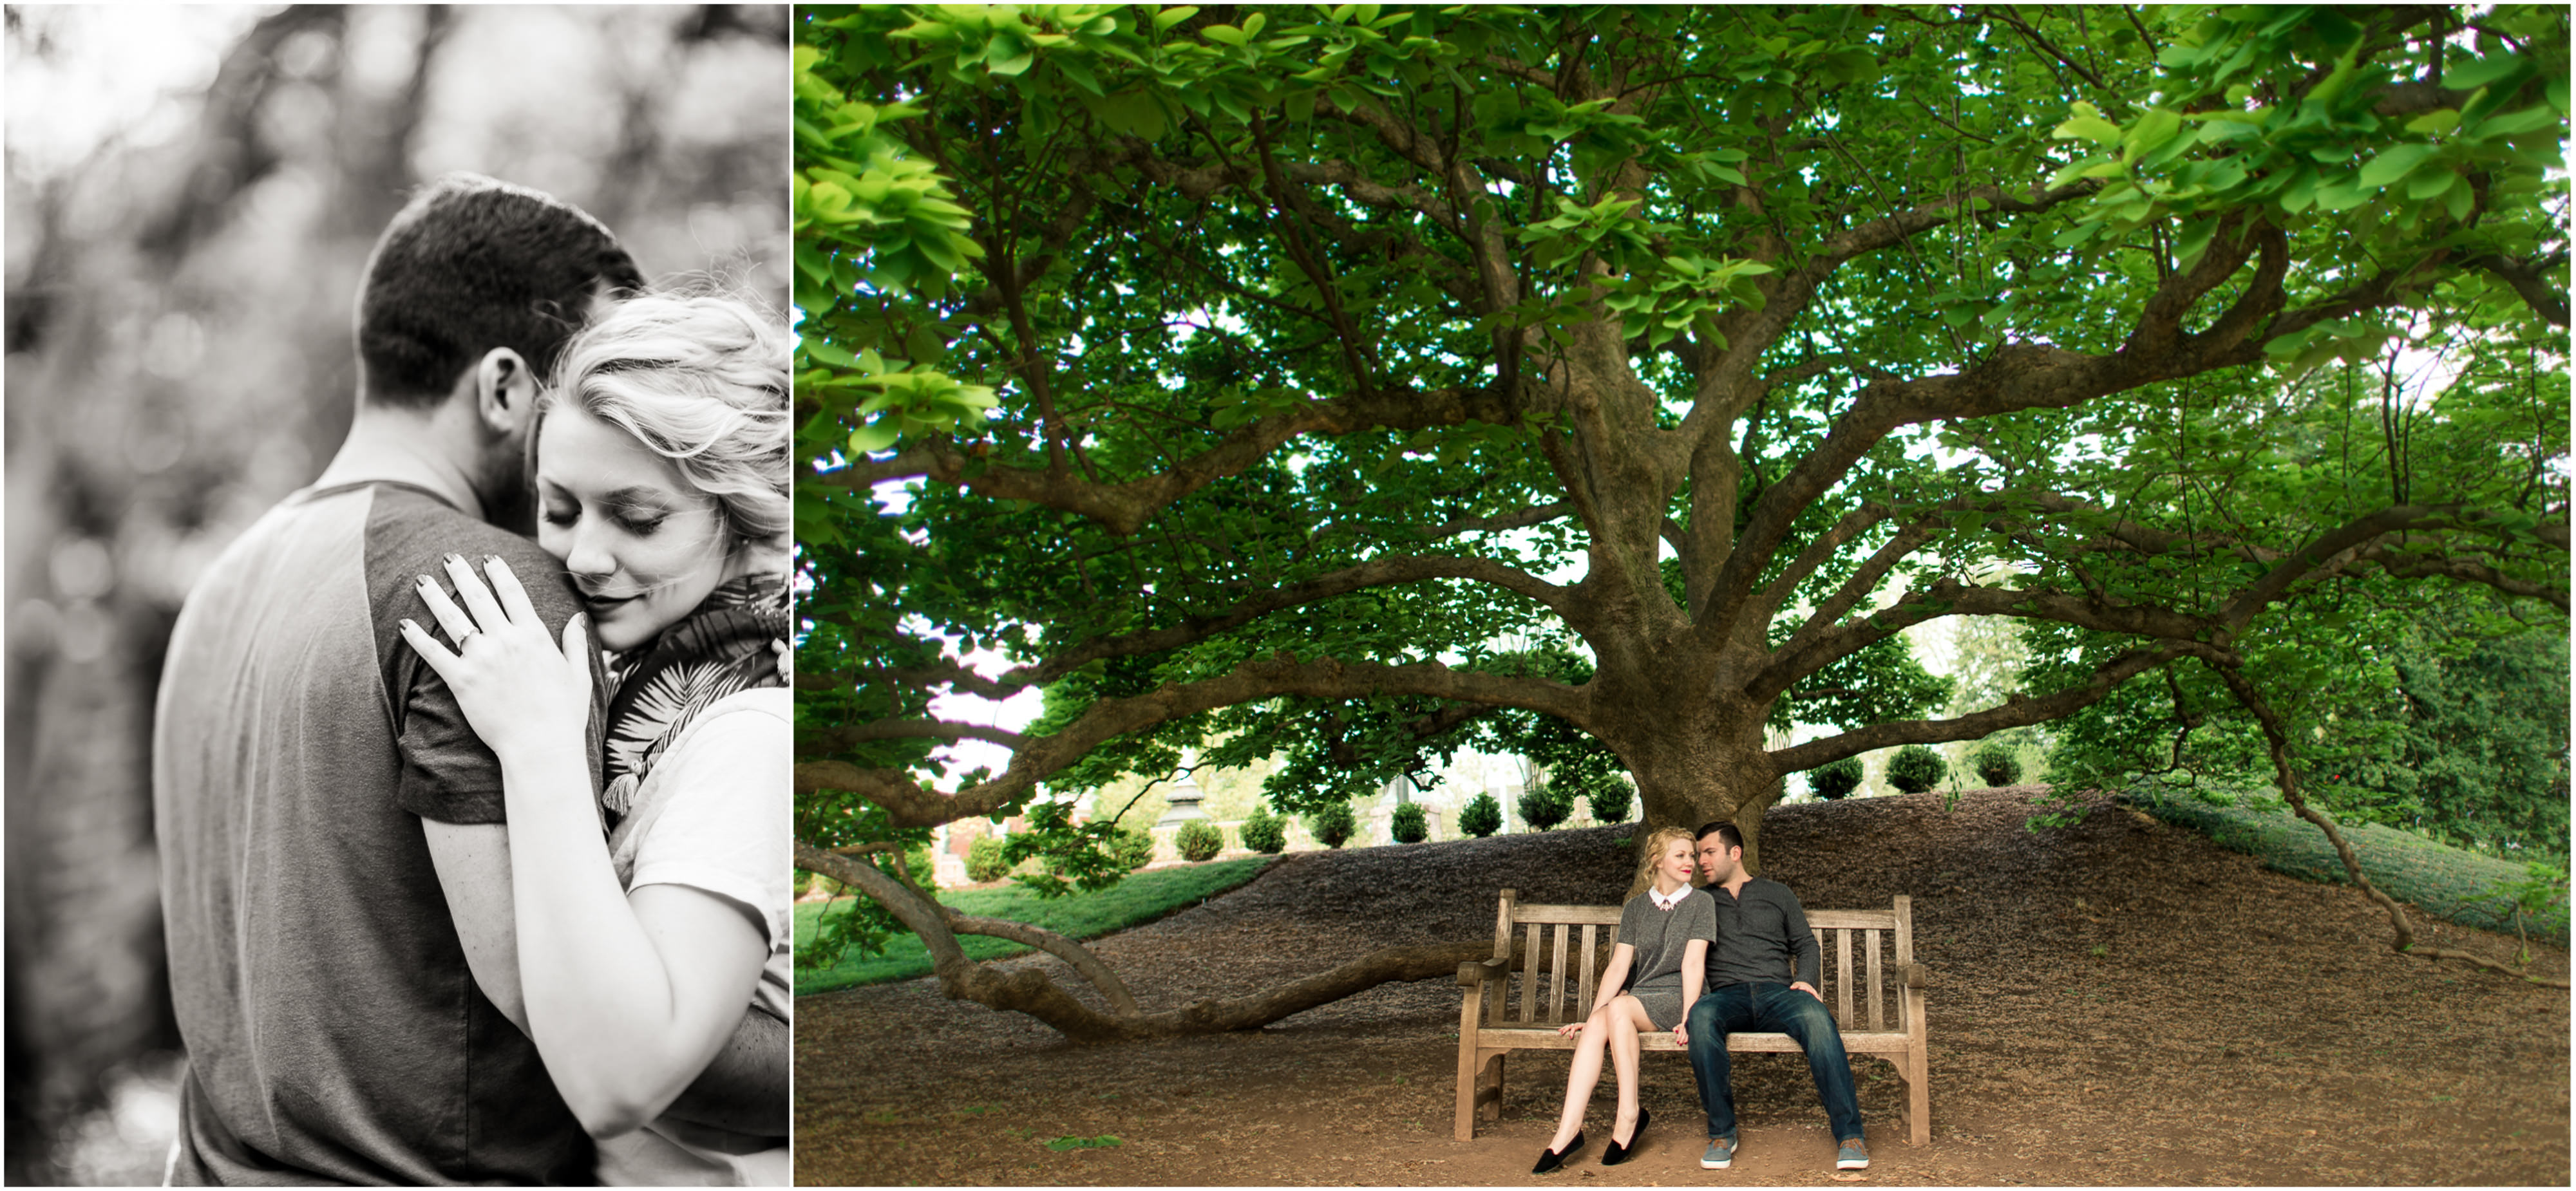
<path fill-rule="evenodd" d="M 1167 913 L 1185 910 L 1234 889 L 1236 884 L 1260 876 L 1262 866 L 1273 858 L 1275 856 L 1244 856 L 1239 861 L 1141 871 L 1095 895 L 1038 897 L 1018 884 L 1005 884 L 999 889 L 948 889 L 940 892 L 940 902 L 953 905 L 966 915 L 1010 918 L 1012 923 L 1043 925 L 1066 938 L 1097 938 L 1110 931 L 1151 923 Z M 817 920 L 827 905 L 837 913 L 840 907 L 848 907 L 848 900 L 796 905 L 796 946 L 814 938 Z M 1025 946 L 984 936 L 958 936 L 958 944 L 966 949 L 969 959 L 999 959 L 1028 951 Z M 927 974 L 930 949 L 925 949 L 922 941 L 907 931 L 889 938 L 886 954 L 881 956 L 848 951 L 840 956 L 840 964 L 824 969 L 799 967 L 796 992 L 829 992 L 835 987 Z"/>

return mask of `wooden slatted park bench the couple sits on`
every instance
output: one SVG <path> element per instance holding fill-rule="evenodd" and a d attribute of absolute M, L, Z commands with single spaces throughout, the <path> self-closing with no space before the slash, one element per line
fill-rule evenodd
<path fill-rule="evenodd" d="M 1574 1049 L 1582 1039 L 1556 1034 L 1556 1026 L 1592 1013 L 1592 990 L 1618 946 L 1615 905 L 1520 905 L 1515 889 L 1502 892 L 1494 913 L 1494 959 L 1458 964 L 1466 995 L 1458 1008 L 1458 1139 L 1476 1137 L 1476 1119 L 1502 1116 L 1502 1060 L 1515 1049 Z M 1914 900 L 1899 895 L 1893 910 L 1808 910 L 1806 925 L 1821 949 L 1819 977 L 1826 1008 L 1850 1054 L 1878 1054 L 1896 1065 L 1906 1085 L 1899 1109 L 1906 1142 L 1932 1139 L 1932 1096 L 1924 1083 L 1924 985 L 1929 972 L 1914 962 Z M 1579 931 L 1577 931 L 1579 928 Z M 1512 967 L 1512 933 L 1520 933 L 1520 967 Z M 1834 938 L 1824 938 L 1832 933 Z M 1607 936 L 1607 938 L 1602 938 Z M 1852 977 L 1852 936 L 1860 936 L 1865 982 Z M 1893 956 L 1880 959 L 1880 941 Z M 1788 972 L 1783 972 L 1785 977 Z M 1886 977 L 1896 977 L 1888 985 Z M 1857 1029 L 1855 992 L 1868 1005 L 1870 1029 Z M 1893 1008 L 1893 1026 L 1888 1023 Z M 1651 1052 L 1680 1052 L 1669 1031 L 1638 1039 Z M 1790 1052 L 1788 1034 L 1728 1034 L 1728 1052 Z"/>

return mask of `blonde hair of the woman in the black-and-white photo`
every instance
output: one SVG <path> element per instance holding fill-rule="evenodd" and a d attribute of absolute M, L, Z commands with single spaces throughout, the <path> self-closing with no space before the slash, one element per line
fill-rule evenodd
<path fill-rule="evenodd" d="M 788 353 L 781 320 L 726 294 L 644 294 L 582 327 L 538 412 L 577 407 L 670 459 L 739 541 L 786 544 Z"/>

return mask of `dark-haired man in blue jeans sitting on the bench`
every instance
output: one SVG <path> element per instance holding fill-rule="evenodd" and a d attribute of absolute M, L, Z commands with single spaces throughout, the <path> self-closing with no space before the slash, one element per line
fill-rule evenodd
<path fill-rule="evenodd" d="M 1700 1078 L 1708 1111 L 1703 1168 L 1723 1170 L 1736 1157 L 1736 1098 L 1726 1085 L 1726 1034 L 1788 1034 L 1806 1049 L 1816 1098 L 1834 1124 L 1837 1170 L 1870 1165 L 1860 1134 L 1860 1098 L 1852 1065 L 1842 1057 L 1842 1031 L 1816 992 L 1816 933 L 1806 928 L 1798 895 L 1780 882 L 1744 871 L 1744 833 L 1734 822 L 1700 828 L 1700 876 L 1718 902 L 1718 944 L 1708 949 L 1708 992 L 1690 1005 L 1690 1070 Z"/>

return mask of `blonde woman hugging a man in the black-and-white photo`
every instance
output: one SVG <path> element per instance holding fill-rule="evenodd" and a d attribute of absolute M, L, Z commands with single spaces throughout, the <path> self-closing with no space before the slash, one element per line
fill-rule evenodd
<path fill-rule="evenodd" d="M 500 758 L 528 1034 L 603 1183 L 788 1181 L 781 1139 L 665 1116 L 744 1003 L 791 1005 L 788 351 L 721 296 L 603 315 L 533 438 L 538 547 L 587 611 L 556 647 L 505 562 L 484 588 L 451 557 L 456 601 L 422 601 L 456 650 L 404 621 Z M 590 626 L 623 673 L 598 802 Z"/>

